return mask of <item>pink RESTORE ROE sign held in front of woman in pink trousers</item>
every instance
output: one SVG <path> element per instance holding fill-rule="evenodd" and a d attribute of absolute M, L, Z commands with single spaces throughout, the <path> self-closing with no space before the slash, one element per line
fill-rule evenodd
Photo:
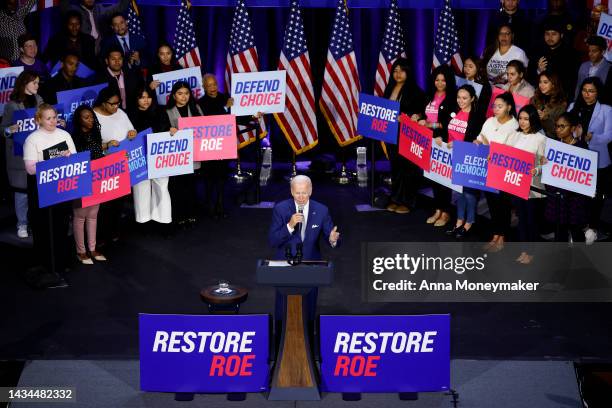
<path fill-rule="evenodd" d="M 83 207 L 104 203 L 130 194 L 127 153 L 121 150 L 91 162 L 92 195 L 82 198 Z"/>

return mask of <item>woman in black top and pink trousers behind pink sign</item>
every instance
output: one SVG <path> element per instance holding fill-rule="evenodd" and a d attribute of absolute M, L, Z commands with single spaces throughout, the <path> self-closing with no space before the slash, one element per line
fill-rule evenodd
<path fill-rule="evenodd" d="M 77 152 L 89 150 L 91 160 L 104 157 L 100 123 L 89 106 L 81 105 L 74 111 L 72 122 L 72 140 Z M 76 244 L 77 260 L 84 265 L 93 265 L 96 261 L 106 261 L 106 257 L 96 250 L 96 230 L 100 204 L 82 208 L 81 200 L 75 200 L 72 207 L 72 229 Z M 87 249 L 85 250 L 85 229 L 87 230 Z M 90 256 L 91 255 L 91 256 Z"/>

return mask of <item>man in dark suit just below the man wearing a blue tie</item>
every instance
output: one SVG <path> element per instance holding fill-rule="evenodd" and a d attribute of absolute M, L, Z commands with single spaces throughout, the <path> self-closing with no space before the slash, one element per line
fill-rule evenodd
<path fill-rule="evenodd" d="M 105 68 L 99 72 L 93 83 L 107 82 L 108 86 L 115 86 L 121 95 L 121 108 L 127 109 L 130 103 L 136 103 L 136 89 L 144 79 L 131 69 L 123 66 L 123 53 L 120 49 L 111 48 L 104 58 Z"/>

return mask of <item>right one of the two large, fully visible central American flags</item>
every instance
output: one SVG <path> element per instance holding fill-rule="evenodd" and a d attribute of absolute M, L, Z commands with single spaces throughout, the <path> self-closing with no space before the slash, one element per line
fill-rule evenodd
<path fill-rule="evenodd" d="M 319 107 L 340 146 L 361 138 L 357 135 L 360 89 L 346 5 L 344 0 L 338 0 Z"/>

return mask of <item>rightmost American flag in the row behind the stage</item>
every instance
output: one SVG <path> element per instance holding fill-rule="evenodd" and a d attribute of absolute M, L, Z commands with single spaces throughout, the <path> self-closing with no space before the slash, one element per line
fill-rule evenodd
<path fill-rule="evenodd" d="M 463 71 L 463 61 L 459 54 L 459 37 L 450 0 L 444 0 L 444 8 L 438 18 L 432 69 L 442 64 L 450 64 L 458 74 Z"/>

